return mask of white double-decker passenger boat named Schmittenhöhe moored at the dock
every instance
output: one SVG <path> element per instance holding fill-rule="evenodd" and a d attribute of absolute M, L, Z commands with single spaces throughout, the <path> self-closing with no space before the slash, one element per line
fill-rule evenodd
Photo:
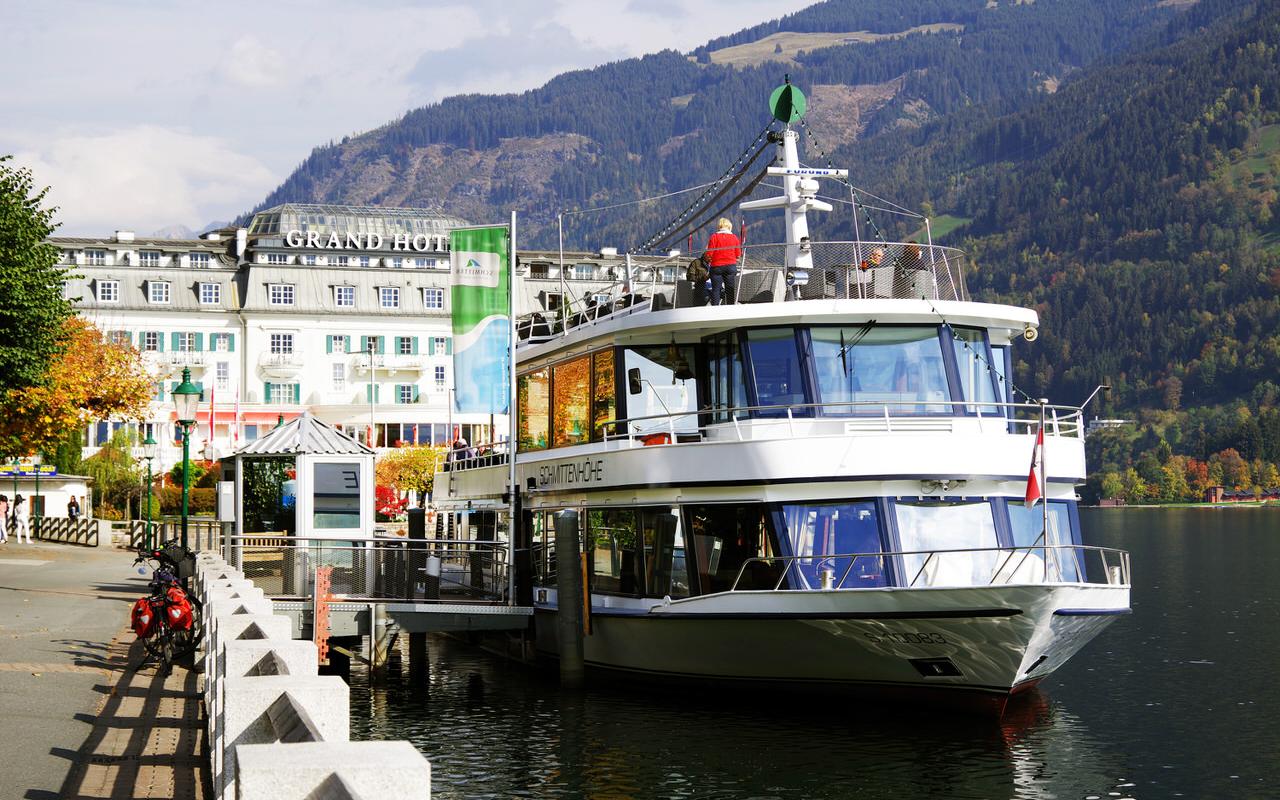
<path fill-rule="evenodd" d="M 783 195 L 741 206 L 787 238 L 744 248 L 737 302 L 630 285 L 520 326 L 516 591 L 556 658 L 573 509 L 589 673 L 1002 709 L 1129 612 L 1128 553 L 1080 539 L 1083 407 L 1015 397 L 1037 314 L 970 300 L 961 252 L 809 241 L 840 173 L 796 138 L 771 134 Z M 449 465 L 438 507 L 507 535 L 503 461 Z"/>

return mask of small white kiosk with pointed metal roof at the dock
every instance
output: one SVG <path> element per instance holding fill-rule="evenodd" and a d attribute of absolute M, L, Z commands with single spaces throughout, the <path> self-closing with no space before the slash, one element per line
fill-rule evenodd
<path fill-rule="evenodd" d="M 374 538 L 374 451 L 303 411 L 236 452 L 236 535 Z"/>

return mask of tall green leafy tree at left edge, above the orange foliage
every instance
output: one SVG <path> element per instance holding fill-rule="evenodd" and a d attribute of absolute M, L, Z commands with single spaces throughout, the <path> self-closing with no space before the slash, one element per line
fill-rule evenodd
<path fill-rule="evenodd" d="M 55 209 L 44 207 L 49 189 L 33 192 L 31 170 L 10 159 L 0 156 L 0 408 L 13 389 L 45 383 L 72 315 L 63 298 L 68 270 L 45 241 L 56 227 Z"/>

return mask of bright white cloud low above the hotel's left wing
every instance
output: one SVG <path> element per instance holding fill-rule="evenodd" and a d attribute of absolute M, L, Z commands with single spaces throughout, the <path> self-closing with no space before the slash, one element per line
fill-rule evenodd
<path fill-rule="evenodd" d="M 174 223 L 200 229 L 248 207 L 280 179 L 220 138 L 157 125 L 55 136 L 14 160 L 50 187 L 63 236 Z"/>

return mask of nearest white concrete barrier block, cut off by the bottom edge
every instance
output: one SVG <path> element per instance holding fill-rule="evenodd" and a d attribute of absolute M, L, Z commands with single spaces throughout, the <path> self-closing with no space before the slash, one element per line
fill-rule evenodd
<path fill-rule="evenodd" d="M 241 745 L 236 749 L 236 760 L 239 764 L 237 800 L 330 796 L 320 791 L 337 781 L 360 797 L 431 797 L 431 764 L 407 741 Z"/>

